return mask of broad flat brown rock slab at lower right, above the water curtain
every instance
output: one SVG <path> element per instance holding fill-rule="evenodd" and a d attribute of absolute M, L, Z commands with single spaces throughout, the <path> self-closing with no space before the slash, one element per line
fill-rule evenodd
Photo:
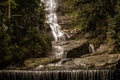
<path fill-rule="evenodd" d="M 120 54 L 89 55 L 65 62 L 64 66 L 74 66 L 85 69 L 116 69 L 120 68 Z"/>

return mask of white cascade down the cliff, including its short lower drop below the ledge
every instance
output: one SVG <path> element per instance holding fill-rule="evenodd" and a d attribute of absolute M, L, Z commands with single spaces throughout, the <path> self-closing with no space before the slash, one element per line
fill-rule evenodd
<path fill-rule="evenodd" d="M 61 26 L 58 24 L 57 21 L 57 14 L 56 14 L 56 10 L 57 10 L 57 0 L 41 0 L 44 4 L 45 4 L 45 10 L 47 11 L 46 14 L 46 22 L 49 24 L 51 30 L 52 30 L 52 34 L 53 37 L 55 39 L 56 42 L 62 40 L 62 38 L 64 38 L 64 33 L 61 31 Z M 62 48 L 62 46 L 53 46 L 56 49 L 56 52 L 54 53 L 54 55 L 56 56 L 56 58 L 62 58 L 64 55 L 64 50 Z"/>

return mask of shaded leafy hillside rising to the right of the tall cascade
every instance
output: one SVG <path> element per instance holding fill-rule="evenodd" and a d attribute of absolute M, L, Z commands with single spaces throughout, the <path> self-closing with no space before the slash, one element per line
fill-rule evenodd
<path fill-rule="evenodd" d="M 80 39 L 89 33 L 89 42 L 98 48 L 101 44 L 120 51 L 119 0 L 59 0 L 59 23 L 65 29 L 80 30 L 71 39 Z"/>

